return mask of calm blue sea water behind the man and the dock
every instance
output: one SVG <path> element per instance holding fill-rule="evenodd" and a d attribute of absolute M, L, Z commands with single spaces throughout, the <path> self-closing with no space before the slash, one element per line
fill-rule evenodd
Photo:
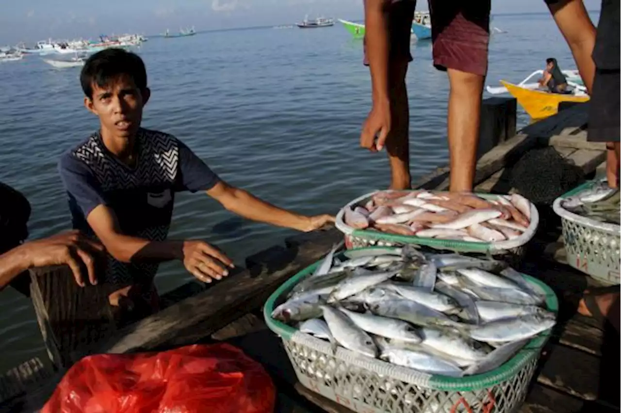
<path fill-rule="evenodd" d="M 550 16 L 496 16 L 492 25 L 504 33 L 492 35 L 486 84 L 519 82 L 551 56 L 561 68 L 574 67 Z M 308 214 L 335 213 L 389 184 L 385 154 L 358 148 L 371 107 L 369 73 L 362 42 L 340 25 L 152 38 L 137 51 L 153 92 L 145 127 L 175 134 L 231 184 Z M 418 177 L 447 161 L 448 81 L 433 68 L 430 42 L 412 43 L 412 53 L 407 84 Z M 0 63 L 0 181 L 32 203 L 31 238 L 70 227 L 57 159 L 97 128 L 83 107 L 78 73 L 36 56 Z M 527 123 L 523 112 L 519 123 Z M 290 234 L 235 218 L 201 193 L 178 196 L 170 232 L 217 244 L 240 265 Z M 156 283 L 163 292 L 190 279 L 173 262 L 161 265 Z M 43 355 L 30 301 L 10 288 L 0 295 L 0 337 L 0 371 Z"/>

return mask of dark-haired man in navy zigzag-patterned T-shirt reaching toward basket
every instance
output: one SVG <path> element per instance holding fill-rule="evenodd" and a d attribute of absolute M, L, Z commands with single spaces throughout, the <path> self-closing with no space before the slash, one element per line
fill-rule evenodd
<path fill-rule="evenodd" d="M 145 65 L 134 53 L 110 48 L 91 56 L 80 75 L 86 108 L 100 130 L 64 154 L 60 175 L 73 227 L 101 240 L 109 255 L 111 304 L 138 297 L 157 308 L 153 286 L 159 262 L 181 260 L 203 282 L 228 275 L 231 260 L 204 241 L 167 240 L 175 192 L 206 191 L 245 218 L 299 231 L 333 221 L 297 215 L 221 180 L 175 136 L 140 127 L 150 90 Z"/>

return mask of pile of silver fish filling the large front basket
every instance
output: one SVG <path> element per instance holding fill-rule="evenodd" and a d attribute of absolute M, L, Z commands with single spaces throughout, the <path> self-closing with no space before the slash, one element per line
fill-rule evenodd
<path fill-rule="evenodd" d="M 556 322 L 542 291 L 502 261 L 413 246 L 335 251 L 271 314 L 334 351 L 461 377 L 497 368 Z"/>

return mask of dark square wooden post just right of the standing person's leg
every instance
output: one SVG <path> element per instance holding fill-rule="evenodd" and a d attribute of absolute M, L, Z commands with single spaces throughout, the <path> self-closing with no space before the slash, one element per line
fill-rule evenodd
<path fill-rule="evenodd" d="M 515 136 L 516 115 L 517 100 L 514 97 L 483 99 L 477 159 L 497 144 Z"/>

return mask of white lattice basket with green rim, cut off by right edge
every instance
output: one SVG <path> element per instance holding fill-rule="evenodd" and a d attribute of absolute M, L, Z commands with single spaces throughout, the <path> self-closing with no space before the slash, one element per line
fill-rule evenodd
<path fill-rule="evenodd" d="M 552 205 L 561 217 L 563 243 L 569 265 L 605 284 L 621 283 L 621 226 L 602 223 L 564 209 L 561 202 L 589 189 L 600 179 L 585 182 L 556 198 Z"/>

